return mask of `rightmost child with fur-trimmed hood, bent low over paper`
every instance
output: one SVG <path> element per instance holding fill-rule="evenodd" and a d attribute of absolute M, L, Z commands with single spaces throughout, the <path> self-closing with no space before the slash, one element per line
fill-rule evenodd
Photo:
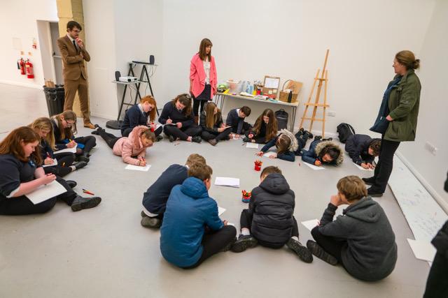
<path fill-rule="evenodd" d="M 309 145 L 309 150 L 302 149 L 302 161 L 317 166 L 322 163 L 340 165 L 344 161 L 344 153 L 332 139 L 322 140 L 321 136 L 316 135 Z"/>

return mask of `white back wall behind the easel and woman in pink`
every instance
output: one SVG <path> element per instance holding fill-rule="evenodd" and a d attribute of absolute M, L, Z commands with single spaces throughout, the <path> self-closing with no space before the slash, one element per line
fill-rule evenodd
<path fill-rule="evenodd" d="M 282 83 L 299 80 L 304 83 L 301 103 L 329 48 L 328 103 L 336 117 L 328 119 L 325 131 L 335 132 L 346 121 L 367 133 L 394 75 L 395 53 L 419 54 L 433 5 L 428 0 L 166 0 L 164 80 L 157 99 L 188 91 L 190 59 L 204 37 L 214 43 L 219 82 L 264 75 L 277 75 Z M 302 113 L 301 105 L 296 126 Z"/>

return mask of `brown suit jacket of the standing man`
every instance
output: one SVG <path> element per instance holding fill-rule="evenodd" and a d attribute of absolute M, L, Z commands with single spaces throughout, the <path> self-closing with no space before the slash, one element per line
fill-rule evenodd
<path fill-rule="evenodd" d="M 75 48 L 69 36 L 58 38 L 57 46 L 62 56 L 62 75 L 64 75 L 64 80 L 78 80 L 81 75 L 87 80 L 84 60 L 90 61 L 90 55 L 85 48 Z M 81 56 L 81 53 L 83 53 L 83 56 Z"/>

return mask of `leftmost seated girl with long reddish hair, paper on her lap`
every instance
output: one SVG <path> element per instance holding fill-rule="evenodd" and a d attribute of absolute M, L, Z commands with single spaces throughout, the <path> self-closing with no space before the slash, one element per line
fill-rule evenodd
<path fill-rule="evenodd" d="M 83 198 L 64 179 L 43 172 L 39 142 L 41 137 L 27 126 L 15 128 L 0 142 L 0 214 L 45 213 L 55 207 L 58 199 L 66 202 L 72 211 L 97 207 L 101 198 Z M 27 194 L 55 180 L 64 186 L 65 193 L 38 204 L 27 198 Z"/>

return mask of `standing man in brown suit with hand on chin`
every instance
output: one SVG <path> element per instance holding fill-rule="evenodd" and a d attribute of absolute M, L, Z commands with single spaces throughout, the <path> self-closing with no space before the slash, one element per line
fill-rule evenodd
<path fill-rule="evenodd" d="M 87 73 L 84 66 L 84 60 L 90 61 L 90 55 L 85 50 L 83 40 L 79 38 L 81 30 L 78 22 L 70 21 L 67 23 L 67 35 L 57 39 L 57 46 L 62 55 L 62 74 L 64 75 L 64 111 L 73 109 L 73 100 L 78 91 L 84 127 L 94 129 L 94 125 L 90 122 Z"/>

